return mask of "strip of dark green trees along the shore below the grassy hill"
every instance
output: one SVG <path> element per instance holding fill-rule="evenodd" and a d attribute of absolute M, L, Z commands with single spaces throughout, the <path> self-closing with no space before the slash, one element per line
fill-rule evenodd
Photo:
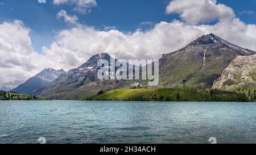
<path fill-rule="evenodd" d="M 147 89 L 145 89 L 147 90 Z M 254 93 L 240 93 L 236 91 L 224 91 L 218 89 L 205 89 L 205 88 L 174 88 L 174 89 L 158 89 L 154 94 L 150 95 L 139 95 L 134 94 L 133 97 L 126 98 L 115 98 L 112 96 L 101 98 L 103 91 L 97 93 L 96 100 L 123 100 L 123 101 L 161 101 L 161 102 L 172 102 L 172 101 L 201 101 L 201 102 L 249 102 L 254 101 Z M 253 94 L 253 95 L 251 95 Z M 86 100 L 93 100 L 94 97 L 89 97 Z"/>

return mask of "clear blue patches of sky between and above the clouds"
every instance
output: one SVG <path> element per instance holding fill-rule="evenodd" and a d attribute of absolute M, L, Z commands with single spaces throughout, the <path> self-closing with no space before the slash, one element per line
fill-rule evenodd
<path fill-rule="evenodd" d="M 87 14 L 73 10 L 73 6 L 53 5 L 52 0 L 38 3 L 37 0 L 0 0 L 0 23 L 14 19 L 22 20 L 24 26 L 31 29 L 32 47 L 40 52 L 43 46 L 49 46 L 55 40 L 57 32 L 69 28 L 63 20 L 56 18 L 57 12 L 66 10 L 70 15 L 76 15 L 79 23 L 104 30 L 104 26 L 113 26 L 122 32 L 134 32 L 138 28 L 147 30 L 161 21 L 171 22 L 179 19 L 177 14 L 166 14 L 169 0 L 97 0 Z M 247 24 L 256 23 L 255 0 L 218 0 L 232 7 L 238 18 Z M 141 24 L 151 22 L 151 24 Z"/>

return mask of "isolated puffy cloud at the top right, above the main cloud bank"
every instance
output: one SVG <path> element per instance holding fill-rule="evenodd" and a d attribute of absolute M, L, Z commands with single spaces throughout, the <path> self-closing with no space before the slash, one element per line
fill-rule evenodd
<path fill-rule="evenodd" d="M 167 14 L 177 13 L 188 24 L 208 23 L 213 20 L 231 20 L 234 11 L 213 0 L 172 0 L 166 8 Z"/>

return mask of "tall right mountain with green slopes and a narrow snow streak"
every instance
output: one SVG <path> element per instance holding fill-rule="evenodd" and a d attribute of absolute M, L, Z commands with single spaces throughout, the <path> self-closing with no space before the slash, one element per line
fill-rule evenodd
<path fill-rule="evenodd" d="M 210 33 L 159 60 L 160 87 L 178 87 L 185 79 L 189 87 L 212 87 L 237 56 L 255 55 Z"/>

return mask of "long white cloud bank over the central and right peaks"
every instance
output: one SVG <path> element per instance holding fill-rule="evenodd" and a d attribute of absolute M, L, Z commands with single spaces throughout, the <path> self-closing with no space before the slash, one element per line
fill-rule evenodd
<path fill-rule="evenodd" d="M 188 26 L 174 20 L 171 23 L 160 22 L 146 32 L 134 33 L 98 31 L 93 27 L 77 26 L 61 31 L 56 37 L 56 43 L 50 48 L 44 48 L 44 52 L 56 53 L 56 49 L 59 52 L 66 49 L 74 54 L 72 58 L 76 58 L 78 64 L 100 52 L 108 52 L 119 59 L 160 58 L 163 53 L 173 52 L 211 32 L 237 45 L 256 50 L 256 36 L 253 35 L 256 33 L 255 25 L 246 25 L 239 19 L 233 19 L 231 22 L 218 22 L 213 26 Z"/>

